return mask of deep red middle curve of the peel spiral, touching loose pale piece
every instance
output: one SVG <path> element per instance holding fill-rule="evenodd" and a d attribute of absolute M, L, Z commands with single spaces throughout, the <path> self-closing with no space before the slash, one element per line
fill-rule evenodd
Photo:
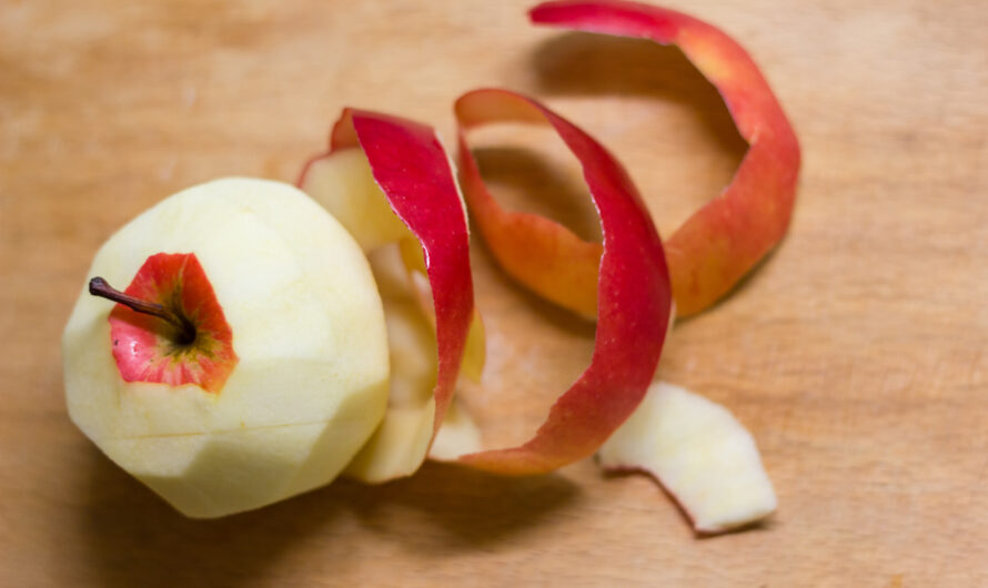
<path fill-rule="evenodd" d="M 500 474 L 550 472 L 592 455 L 645 395 L 671 321 L 672 291 L 662 241 L 621 164 L 589 135 L 538 102 L 506 90 L 477 90 L 456 101 L 456 115 L 464 185 L 482 186 L 466 143 L 468 129 L 492 122 L 548 123 L 579 160 L 601 217 L 605 246 L 595 272 L 599 275 L 598 318 L 591 365 L 555 402 L 531 440 L 460 458 Z M 483 210 L 476 211 L 478 224 L 494 209 Z"/>

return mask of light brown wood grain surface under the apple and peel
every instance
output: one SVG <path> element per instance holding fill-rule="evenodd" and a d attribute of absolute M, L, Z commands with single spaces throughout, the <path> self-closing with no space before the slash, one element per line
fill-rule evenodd
<path fill-rule="evenodd" d="M 745 150 L 677 50 L 536 29 L 515 0 L 3 0 L 0 585 L 988 586 L 988 4 L 673 1 L 749 49 L 804 149 L 788 237 L 659 368 L 750 428 L 769 524 L 698 539 L 652 481 L 589 460 L 429 465 L 192 521 L 65 414 L 59 341 L 99 245 L 181 187 L 292 180 L 345 104 L 450 144 L 460 93 L 532 93 L 671 234 Z M 486 173 L 593 234 L 575 163 L 536 135 L 492 135 Z M 534 429 L 593 326 L 473 261 L 490 362 L 464 398 L 493 446 Z"/>

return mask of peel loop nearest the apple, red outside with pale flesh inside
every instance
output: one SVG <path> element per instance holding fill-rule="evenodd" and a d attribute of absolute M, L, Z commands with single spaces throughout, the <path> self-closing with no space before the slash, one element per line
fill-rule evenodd
<path fill-rule="evenodd" d="M 426 351 L 421 330 L 417 343 L 406 344 L 415 338 L 404 336 L 414 322 L 407 304 L 389 312 L 392 358 L 416 367 L 393 374 L 387 415 L 347 468 L 349 475 L 374 483 L 411 475 L 450 406 L 475 316 L 466 211 L 451 162 L 431 128 L 346 109 L 333 126 L 329 152 L 306 163 L 299 186 L 337 215 L 366 251 L 400 242 L 406 278 L 420 300 L 426 293 L 414 284 L 414 274 L 427 278 L 425 316 L 435 323 L 437 351 Z M 415 255 L 407 252 L 416 250 L 421 261 L 412 263 Z M 467 356 L 478 373 L 483 352 Z M 430 361 L 437 363 L 432 381 L 421 369 Z"/>

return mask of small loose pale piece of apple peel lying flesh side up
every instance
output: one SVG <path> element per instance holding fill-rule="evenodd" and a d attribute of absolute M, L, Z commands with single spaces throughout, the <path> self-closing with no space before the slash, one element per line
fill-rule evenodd
<path fill-rule="evenodd" d="M 597 456 L 605 469 L 654 476 L 699 533 L 736 529 L 776 508 L 772 481 L 744 425 L 719 404 L 679 386 L 649 386 Z"/>

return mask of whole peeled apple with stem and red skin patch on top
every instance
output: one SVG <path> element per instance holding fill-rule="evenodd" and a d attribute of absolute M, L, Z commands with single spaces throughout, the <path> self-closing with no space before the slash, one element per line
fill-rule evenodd
<path fill-rule="evenodd" d="M 89 276 L 62 339 L 69 414 L 190 517 L 329 483 L 384 416 L 367 261 L 290 185 L 184 190 L 110 237 Z"/>

